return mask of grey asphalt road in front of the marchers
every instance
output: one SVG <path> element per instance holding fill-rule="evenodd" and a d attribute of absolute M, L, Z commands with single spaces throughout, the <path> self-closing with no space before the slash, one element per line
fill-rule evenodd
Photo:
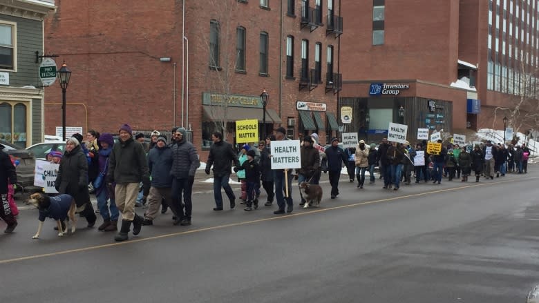
<path fill-rule="evenodd" d="M 539 282 L 538 182 L 536 166 L 398 191 L 343 176 L 337 199 L 323 184 L 321 208 L 290 215 L 214 212 L 198 194 L 192 226 L 162 215 L 119 244 L 84 220 L 57 237 L 48 219 L 32 240 L 37 211 L 21 211 L 0 235 L 0 302 L 525 302 Z"/>

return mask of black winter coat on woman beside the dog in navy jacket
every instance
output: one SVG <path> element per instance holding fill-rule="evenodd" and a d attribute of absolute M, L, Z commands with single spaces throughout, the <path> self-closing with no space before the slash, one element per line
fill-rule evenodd
<path fill-rule="evenodd" d="M 73 197 L 77 207 L 90 202 L 88 161 L 80 145 L 70 152 L 66 151 L 64 153 L 58 168 L 55 187 L 58 193 L 65 193 Z"/>

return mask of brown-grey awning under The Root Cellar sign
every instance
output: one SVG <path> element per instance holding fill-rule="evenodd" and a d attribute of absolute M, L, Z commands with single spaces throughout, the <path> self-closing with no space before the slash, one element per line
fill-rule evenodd
<path fill-rule="evenodd" d="M 202 110 L 204 111 L 205 119 L 210 121 L 237 121 L 237 120 L 248 120 L 248 119 L 258 119 L 262 122 L 264 110 L 262 108 L 251 108 L 251 107 L 240 107 L 240 106 L 211 106 L 203 105 Z M 226 112 L 226 113 L 225 113 Z M 266 123 L 278 123 L 281 124 L 283 121 L 277 112 L 272 108 L 266 108 Z"/>

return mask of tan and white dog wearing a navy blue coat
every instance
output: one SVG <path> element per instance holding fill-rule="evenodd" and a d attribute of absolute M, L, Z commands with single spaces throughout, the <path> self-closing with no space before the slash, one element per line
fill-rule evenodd
<path fill-rule="evenodd" d="M 68 226 L 64 220 L 69 217 L 71 224 L 71 233 L 75 233 L 77 221 L 75 219 L 75 211 L 77 211 L 77 205 L 75 199 L 70 195 L 62 194 L 55 197 L 49 197 L 42 193 L 33 193 L 25 201 L 25 204 L 33 205 L 39 209 L 39 226 L 37 226 L 37 232 L 32 239 L 38 239 L 41 233 L 41 228 L 45 222 L 46 217 L 50 217 L 56 220 L 58 225 L 58 237 L 62 237 L 67 234 Z M 66 229 L 62 228 L 62 223 L 66 226 Z"/>

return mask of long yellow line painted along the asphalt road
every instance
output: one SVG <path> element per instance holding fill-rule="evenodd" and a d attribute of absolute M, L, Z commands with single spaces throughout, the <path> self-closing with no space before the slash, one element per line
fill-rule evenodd
<path fill-rule="evenodd" d="M 529 180 L 529 179 L 537 179 L 537 178 L 539 178 L 539 177 L 528 177 L 527 180 Z M 515 182 L 515 181 L 522 181 L 522 180 L 521 179 L 511 179 L 511 180 L 499 181 L 499 182 L 480 183 L 480 184 L 459 186 L 459 187 L 454 187 L 454 188 L 445 188 L 445 189 L 439 189 L 439 190 L 432 190 L 432 191 L 428 191 L 428 192 L 425 192 L 425 193 L 415 193 L 415 194 L 410 194 L 410 195 L 399 195 L 399 196 L 396 196 L 396 197 L 390 197 L 390 198 L 386 198 L 386 199 L 377 199 L 377 200 L 366 201 L 366 202 L 358 202 L 358 203 L 354 203 L 354 204 L 346 204 L 346 205 L 341 205 L 341 206 L 332 206 L 332 207 L 329 207 L 329 208 L 319 208 L 319 209 L 316 209 L 314 211 L 308 211 L 308 212 L 305 212 L 305 213 L 292 213 L 290 215 L 283 215 L 283 216 L 278 216 L 278 217 L 269 217 L 269 218 L 265 218 L 265 219 L 256 219 L 256 220 L 250 220 L 250 221 L 244 221 L 244 222 L 236 222 L 236 223 L 231 223 L 231 224 L 223 224 L 223 225 L 218 225 L 218 226 L 210 226 L 210 227 L 205 227 L 205 228 L 198 228 L 198 229 L 193 229 L 191 231 L 181 231 L 181 232 L 178 232 L 178 233 L 167 233 L 165 235 L 156 235 L 156 236 L 153 236 L 153 237 L 146 237 L 146 238 L 142 238 L 142 239 L 129 240 L 129 241 L 126 241 L 126 242 L 117 242 L 117 243 L 111 243 L 111 244 L 88 246 L 88 247 L 83 247 L 83 248 L 69 249 L 67 251 L 57 251 L 57 252 L 54 252 L 54 253 L 44 253 L 44 254 L 41 254 L 41 255 L 28 255 L 26 257 L 16 257 L 16 258 L 12 258 L 12 259 L 0 260 L 0 264 L 13 263 L 13 262 L 19 262 L 19 261 L 24 261 L 24 260 L 33 260 L 33 259 L 39 259 L 39 258 L 42 258 L 42 257 L 53 257 L 53 256 L 56 256 L 56 255 L 65 255 L 67 253 L 80 253 L 80 252 L 83 252 L 83 251 L 93 251 L 95 249 L 100 249 L 100 248 L 108 248 L 108 247 L 113 247 L 113 246 L 133 244 L 133 243 L 137 243 L 137 242 L 158 240 L 158 239 L 163 239 L 163 238 L 166 238 L 166 237 L 175 237 L 175 236 L 178 236 L 178 235 L 187 235 L 189 233 L 200 233 L 202 231 L 213 231 L 213 230 L 216 230 L 216 229 L 233 227 L 233 226 L 254 224 L 254 223 L 258 223 L 258 222 L 266 222 L 266 221 L 272 221 L 272 220 L 278 220 L 278 219 L 287 219 L 287 218 L 290 218 L 290 217 L 296 217 L 296 216 L 300 216 L 300 215 L 311 215 L 313 213 L 321 213 L 321 212 L 325 212 L 325 211 L 333 211 L 333 210 L 341 209 L 341 208 L 349 208 L 349 207 L 354 207 L 354 206 L 362 206 L 362 205 L 375 204 L 375 203 L 381 203 L 381 202 L 391 202 L 391 201 L 395 201 L 397 199 L 403 199 L 403 198 L 409 198 L 409 197 L 419 197 L 419 196 L 431 195 L 431 194 L 435 194 L 435 193 L 444 193 L 446 191 L 451 191 L 451 190 L 459 190 L 459 189 L 463 189 L 463 188 L 472 188 L 472 187 L 477 187 L 477 186 L 490 186 L 490 185 L 496 185 L 496 184 Z"/>

